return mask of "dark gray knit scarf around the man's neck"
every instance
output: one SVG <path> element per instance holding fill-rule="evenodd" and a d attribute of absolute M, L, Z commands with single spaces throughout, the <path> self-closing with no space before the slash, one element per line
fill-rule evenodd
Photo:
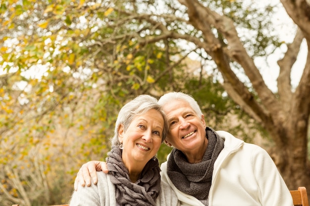
<path fill-rule="evenodd" d="M 203 203 L 206 203 L 211 187 L 214 162 L 224 148 L 224 140 L 212 128 L 206 128 L 206 136 L 208 144 L 202 162 L 190 164 L 175 148 L 167 161 L 167 174 L 174 186 Z"/>

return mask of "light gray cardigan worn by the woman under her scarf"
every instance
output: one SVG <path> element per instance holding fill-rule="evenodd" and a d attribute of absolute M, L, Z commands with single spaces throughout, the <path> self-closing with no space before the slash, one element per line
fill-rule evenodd
<path fill-rule="evenodd" d="M 117 206 L 115 198 L 115 186 L 110 181 L 109 174 L 97 172 L 98 183 L 90 187 L 78 186 L 78 190 L 72 195 L 70 206 Z M 160 183 L 160 193 L 156 199 L 156 206 L 180 206 L 180 203 L 171 189 L 164 183 Z"/>

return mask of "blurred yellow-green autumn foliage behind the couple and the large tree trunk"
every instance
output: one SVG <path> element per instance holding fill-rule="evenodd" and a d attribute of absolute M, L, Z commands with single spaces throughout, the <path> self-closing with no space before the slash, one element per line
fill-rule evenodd
<path fill-rule="evenodd" d="M 246 30 L 241 38 L 253 58 L 284 43 L 264 30 L 272 28 L 264 17 L 278 4 L 260 10 L 237 0 L 201 3 Z M 181 40 L 202 38 L 181 19 L 185 12 L 169 0 L 0 0 L 1 204 L 68 203 L 78 169 L 105 160 L 119 109 L 139 94 L 189 93 L 209 126 L 272 146 L 268 132 L 227 94 L 212 58 Z M 165 29 L 158 22 L 180 38 L 159 38 Z M 160 162 L 170 150 L 161 146 Z"/>

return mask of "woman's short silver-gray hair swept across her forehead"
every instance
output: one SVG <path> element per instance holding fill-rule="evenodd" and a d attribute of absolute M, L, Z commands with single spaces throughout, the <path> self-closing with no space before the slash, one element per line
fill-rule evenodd
<path fill-rule="evenodd" d="M 169 129 L 166 115 L 162 110 L 162 106 L 157 103 L 156 98 L 147 94 L 142 94 L 137 96 L 130 102 L 126 103 L 119 111 L 115 123 L 114 136 L 111 139 L 112 146 L 120 145 L 120 142 L 118 140 L 118 128 L 121 124 L 124 126 L 124 131 L 126 131 L 131 121 L 137 115 L 142 115 L 151 109 L 155 109 L 156 111 L 158 111 L 163 118 L 163 131 L 161 137 L 161 142 L 163 142 Z"/>

